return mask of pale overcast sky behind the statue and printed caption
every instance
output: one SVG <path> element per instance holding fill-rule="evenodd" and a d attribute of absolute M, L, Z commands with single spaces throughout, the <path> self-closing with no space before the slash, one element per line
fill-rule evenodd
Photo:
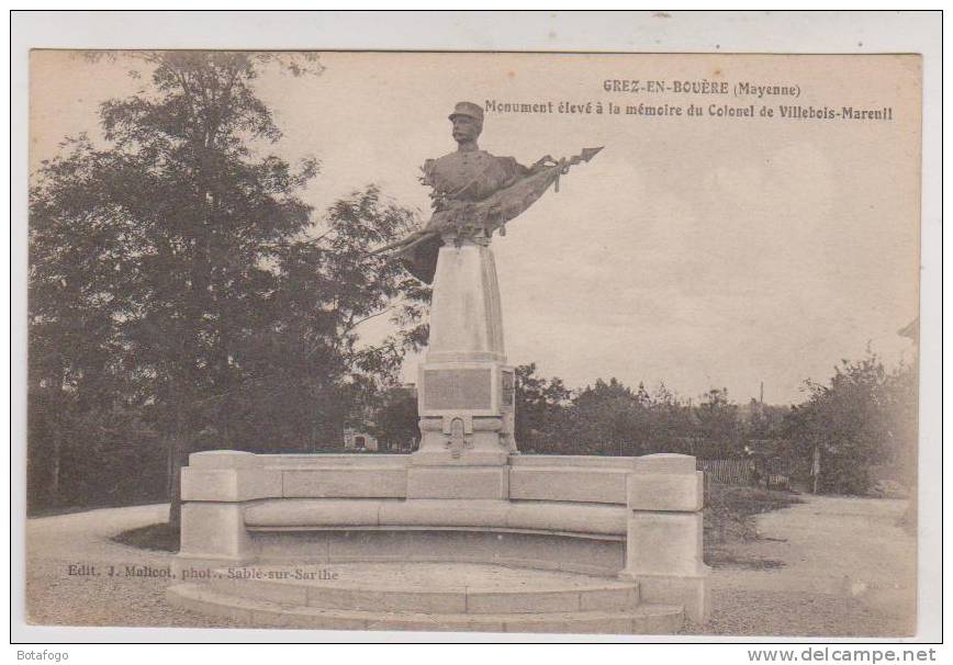
<path fill-rule="evenodd" d="M 481 147 L 531 164 L 606 146 L 496 238 L 511 363 L 581 387 L 616 376 L 683 397 L 713 386 L 747 402 L 799 402 L 870 342 L 912 357 L 917 316 L 919 60 L 913 57 L 324 54 L 326 69 L 258 81 L 284 138 L 315 156 L 303 196 L 318 212 L 377 183 L 428 210 L 426 158 L 456 148 L 455 102 L 552 100 L 745 105 L 718 95 L 605 92 L 605 79 L 796 83 L 794 103 L 892 106 L 890 122 L 487 114 Z M 98 104 L 141 86 L 127 66 L 65 53 L 32 59 L 31 167 Z M 789 99 L 767 100 L 772 105 Z M 381 329 L 369 327 L 369 337 Z M 415 360 L 405 375 L 413 381 Z"/>

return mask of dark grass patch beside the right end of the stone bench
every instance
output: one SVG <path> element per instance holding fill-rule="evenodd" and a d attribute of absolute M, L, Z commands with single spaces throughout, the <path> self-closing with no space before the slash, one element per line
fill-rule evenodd
<path fill-rule="evenodd" d="M 780 567 L 773 560 L 738 557 L 735 546 L 759 539 L 759 515 L 804 501 L 788 492 L 714 482 L 707 486 L 705 499 L 705 563 L 716 567 Z"/>

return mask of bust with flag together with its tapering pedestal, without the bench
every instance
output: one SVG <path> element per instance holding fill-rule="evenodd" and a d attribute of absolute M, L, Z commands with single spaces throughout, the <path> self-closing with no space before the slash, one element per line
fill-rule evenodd
<path fill-rule="evenodd" d="M 423 438 L 412 477 L 427 477 L 428 486 L 469 482 L 469 496 L 500 498 L 507 458 L 518 450 L 515 371 L 506 363 L 490 239 L 602 148 L 560 160 L 547 155 L 525 167 L 480 149 L 483 110 L 477 104 L 458 103 L 450 122 L 457 151 L 428 159 L 421 178 L 433 189 L 434 214 L 424 228 L 377 252 L 434 284 L 429 345 L 418 368 Z M 453 470 L 442 469 L 448 465 Z"/>

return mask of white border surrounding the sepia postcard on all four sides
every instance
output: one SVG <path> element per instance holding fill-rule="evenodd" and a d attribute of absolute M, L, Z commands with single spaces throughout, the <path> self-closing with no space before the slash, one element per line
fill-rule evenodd
<path fill-rule="evenodd" d="M 942 27 L 938 12 L 15 12 L 11 16 L 11 639 L 14 642 L 500 641 L 317 631 L 58 628 L 24 622 L 27 54 L 31 48 L 919 53 L 923 56 L 919 617 L 939 641 Z M 8 473 L 10 469 L 8 469 Z M 20 517 L 18 517 L 20 516 Z M 525 641 L 525 635 L 511 635 Z M 579 636 L 547 636 L 554 641 Z M 585 639 L 585 638 L 583 638 Z M 725 642 L 724 636 L 713 638 Z M 606 641 L 592 636 L 592 641 Z M 625 640 L 625 638 L 623 638 Z M 644 641 L 639 638 L 639 641 Z M 664 640 L 663 640 L 664 641 Z M 697 642 L 704 638 L 683 636 Z M 739 639 L 751 642 L 751 638 Z M 780 642 L 789 640 L 766 639 Z M 803 640 L 798 640 L 803 641 Z M 834 640 L 821 640 L 831 643 Z M 867 640 L 868 641 L 868 640 Z M 866 642 L 866 641 L 865 641 Z M 707 657 L 707 656 L 706 656 Z"/>

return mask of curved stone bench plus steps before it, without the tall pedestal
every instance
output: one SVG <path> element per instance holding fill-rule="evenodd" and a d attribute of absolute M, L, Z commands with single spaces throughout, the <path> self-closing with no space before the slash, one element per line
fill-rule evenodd
<path fill-rule="evenodd" d="M 664 633 L 677 631 L 683 616 L 697 623 L 707 620 L 702 477 L 694 458 L 509 455 L 508 463 L 495 464 L 486 458 L 470 461 L 466 450 L 449 461 L 412 458 L 192 453 L 182 469 L 182 546 L 172 564 L 180 582 L 170 587 L 169 600 L 203 612 L 242 616 L 259 627 L 270 625 L 267 613 L 276 611 L 288 621 L 284 627 L 340 628 L 340 619 L 366 629 L 380 627 L 382 617 L 361 611 L 397 611 L 395 619 L 419 613 L 419 608 L 388 605 L 382 586 L 394 574 L 425 566 L 421 574 L 428 584 L 416 582 L 412 593 L 395 594 L 442 602 L 448 595 L 439 579 L 460 586 L 459 565 L 490 565 L 523 571 L 527 583 L 542 571 L 593 576 L 598 589 L 592 594 L 574 584 L 563 590 L 547 584 L 538 598 L 541 605 L 523 598 L 492 610 L 512 611 L 537 629 L 546 623 L 563 631 L 613 627 L 618 632 Z M 349 563 L 392 565 L 393 573 L 367 579 L 356 572 L 343 575 L 344 583 L 368 586 L 344 595 L 323 579 L 300 582 L 309 588 L 288 586 L 289 579 L 262 581 L 268 588 L 256 591 L 249 579 L 257 577 L 232 581 L 227 573 L 246 566 L 338 570 Z M 628 591 L 615 598 L 605 591 L 607 586 Z M 525 590 L 520 584 L 516 593 Z M 315 605 L 313 591 L 334 595 L 334 606 Z M 266 605 L 256 605 L 258 600 Z M 504 599 L 494 594 L 493 601 Z M 481 602 L 468 598 L 464 611 L 453 613 L 489 611 L 479 609 L 489 607 Z M 641 628 L 632 623 L 659 612 L 671 621 Z M 426 628 L 433 630 L 440 612 L 426 613 Z M 580 623 L 568 623 L 575 620 Z M 507 623 L 506 630 L 512 627 L 515 623 Z M 503 630 L 472 623 L 460 628 L 477 629 Z"/>

